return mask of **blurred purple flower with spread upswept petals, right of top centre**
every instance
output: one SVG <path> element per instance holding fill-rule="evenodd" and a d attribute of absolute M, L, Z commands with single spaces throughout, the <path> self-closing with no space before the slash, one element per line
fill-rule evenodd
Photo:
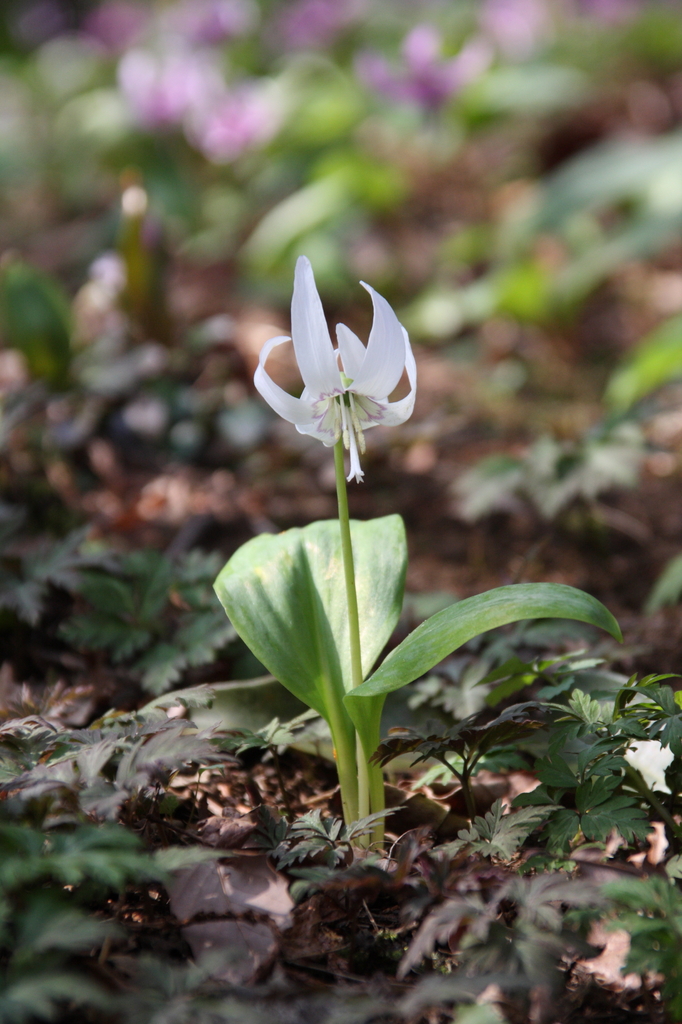
<path fill-rule="evenodd" d="M 356 60 L 360 79 L 391 99 L 437 110 L 489 66 L 493 53 L 486 40 L 475 37 L 457 56 L 443 60 L 442 40 L 431 25 L 418 25 L 402 42 L 403 67 L 395 71 L 379 53 L 366 51 Z"/>

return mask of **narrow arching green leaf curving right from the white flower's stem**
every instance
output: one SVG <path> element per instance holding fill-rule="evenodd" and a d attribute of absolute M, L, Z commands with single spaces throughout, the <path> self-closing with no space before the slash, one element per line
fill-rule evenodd
<path fill-rule="evenodd" d="M 480 633 L 521 618 L 576 618 L 599 626 L 616 640 L 621 630 L 600 601 L 564 584 L 516 584 L 469 597 L 422 623 L 381 664 L 373 676 L 345 697 L 357 725 L 369 696 L 390 693 L 432 669 Z"/>

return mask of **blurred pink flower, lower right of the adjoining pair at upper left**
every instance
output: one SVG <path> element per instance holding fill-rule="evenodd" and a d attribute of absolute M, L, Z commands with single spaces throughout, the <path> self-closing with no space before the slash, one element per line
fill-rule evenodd
<path fill-rule="evenodd" d="M 280 113 L 266 90 L 256 83 L 242 82 L 204 111 L 187 134 L 208 160 L 227 164 L 245 151 L 268 142 L 280 123 Z"/>

